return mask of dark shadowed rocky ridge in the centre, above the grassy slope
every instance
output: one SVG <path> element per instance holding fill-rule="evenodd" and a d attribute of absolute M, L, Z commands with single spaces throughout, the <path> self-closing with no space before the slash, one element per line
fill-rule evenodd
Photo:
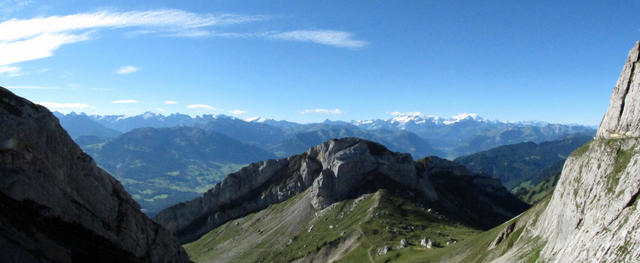
<path fill-rule="evenodd" d="M 311 205 L 329 205 L 378 189 L 392 189 L 436 204 L 443 213 L 478 227 L 495 226 L 527 208 L 497 180 L 432 157 L 409 154 L 357 138 L 333 139 L 301 155 L 251 164 L 230 174 L 204 196 L 161 211 L 155 220 L 183 242 L 213 228 L 283 202 L 309 189 Z"/>

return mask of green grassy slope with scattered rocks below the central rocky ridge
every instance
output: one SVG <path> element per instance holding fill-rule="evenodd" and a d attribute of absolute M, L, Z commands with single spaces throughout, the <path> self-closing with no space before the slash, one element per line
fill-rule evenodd
<path fill-rule="evenodd" d="M 480 233 L 385 190 L 336 203 L 317 214 L 309 197 L 296 197 L 230 221 L 185 245 L 196 262 L 430 262 Z M 311 227 L 313 226 L 313 227 Z M 310 231 L 309 231 L 310 230 Z M 422 248 L 429 237 L 435 247 Z M 397 248 L 401 239 L 408 248 Z M 387 255 L 376 255 L 389 245 Z"/>

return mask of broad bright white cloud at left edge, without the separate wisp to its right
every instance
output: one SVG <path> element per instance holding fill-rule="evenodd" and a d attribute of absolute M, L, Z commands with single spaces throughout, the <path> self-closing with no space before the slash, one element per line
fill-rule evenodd
<path fill-rule="evenodd" d="M 177 34 L 264 19 L 263 16 L 196 14 L 176 9 L 9 19 L 0 22 L 0 65 L 49 57 L 62 45 L 89 40 L 91 33 L 100 29 L 152 27 L 153 32 Z"/>

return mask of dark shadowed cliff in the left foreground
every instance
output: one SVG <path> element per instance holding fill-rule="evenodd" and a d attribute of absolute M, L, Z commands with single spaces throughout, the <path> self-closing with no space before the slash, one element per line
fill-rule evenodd
<path fill-rule="evenodd" d="M 189 262 L 44 107 L 0 87 L 0 254 L 9 262 Z"/>

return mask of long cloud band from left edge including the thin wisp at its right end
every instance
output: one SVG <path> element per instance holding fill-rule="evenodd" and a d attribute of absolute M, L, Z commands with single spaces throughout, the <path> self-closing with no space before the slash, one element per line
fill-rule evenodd
<path fill-rule="evenodd" d="M 270 19 L 269 16 L 198 14 L 177 9 L 148 11 L 100 11 L 65 16 L 9 19 L 0 22 L 0 65 L 50 57 L 67 44 L 92 39 L 96 32 L 131 29 L 125 34 L 169 37 L 266 38 L 312 42 L 342 48 L 360 48 L 368 43 L 353 33 L 336 30 L 266 31 L 262 33 L 219 32 L 215 26 Z"/>

